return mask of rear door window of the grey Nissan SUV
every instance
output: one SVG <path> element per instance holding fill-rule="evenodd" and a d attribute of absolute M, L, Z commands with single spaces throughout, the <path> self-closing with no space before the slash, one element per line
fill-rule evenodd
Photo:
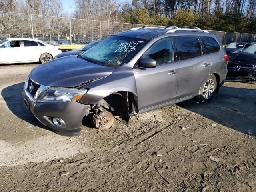
<path fill-rule="evenodd" d="M 197 36 L 177 37 L 180 60 L 202 55 L 202 48 Z"/>

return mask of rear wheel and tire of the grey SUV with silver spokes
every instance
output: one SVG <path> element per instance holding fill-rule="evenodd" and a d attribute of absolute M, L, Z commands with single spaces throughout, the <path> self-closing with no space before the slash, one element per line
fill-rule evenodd
<path fill-rule="evenodd" d="M 196 96 L 195 100 L 199 103 L 207 103 L 212 100 L 216 89 L 217 89 L 217 80 L 216 77 L 211 74 L 204 80 L 202 83 L 198 96 Z"/>

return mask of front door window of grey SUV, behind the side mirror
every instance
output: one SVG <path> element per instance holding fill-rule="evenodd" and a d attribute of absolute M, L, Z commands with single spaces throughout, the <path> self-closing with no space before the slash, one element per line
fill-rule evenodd
<path fill-rule="evenodd" d="M 172 39 L 169 38 L 156 42 L 142 57 L 150 57 L 156 60 L 156 65 L 160 65 L 172 62 L 172 53 Z"/>

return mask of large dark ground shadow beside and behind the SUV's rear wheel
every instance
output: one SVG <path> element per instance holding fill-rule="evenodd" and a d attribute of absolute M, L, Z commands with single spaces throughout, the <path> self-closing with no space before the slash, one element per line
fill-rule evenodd
<path fill-rule="evenodd" d="M 256 90 L 222 86 L 209 103 L 197 104 L 189 100 L 178 106 L 218 124 L 256 136 Z"/>

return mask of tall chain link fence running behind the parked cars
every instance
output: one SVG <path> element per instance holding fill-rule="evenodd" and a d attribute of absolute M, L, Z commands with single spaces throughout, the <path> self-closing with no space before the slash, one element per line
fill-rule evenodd
<path fill-rule="evenodd" d="M 63 18 L 22 13 L 0 12 L 0 40 L 22 37 L 37 38 L 65 44 L 86 44 L 108 36 L 140 27 L 139 24 Z M 255 42 L 256 34 L 210 31 L 222 44 Z"/>

